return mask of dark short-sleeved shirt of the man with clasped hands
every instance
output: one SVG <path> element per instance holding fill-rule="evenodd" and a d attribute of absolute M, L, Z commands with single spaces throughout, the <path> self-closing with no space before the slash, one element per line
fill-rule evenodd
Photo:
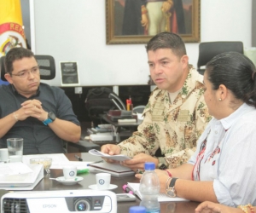
<path fill-rule="evenodd" d="M 0 118 L 17 111 L 21 103 L 32 99 L 41 101 L 44 110 L 54 112 L 56 118 L 79 125 L 79 120 L 73 113 L 72 103 L 64 91 L 46 83 L 40 83 L 38 93 L 30 98 L 18 94 L 11 84 L 0 86 Z M 28 117 L 26 120 L 16 122 L 0 139 L 0 147 L 6 147 L 6 139 L 14 137 L 24 139 L 23 154 L 64 153 L 61 138 L 37 118 Z"/>

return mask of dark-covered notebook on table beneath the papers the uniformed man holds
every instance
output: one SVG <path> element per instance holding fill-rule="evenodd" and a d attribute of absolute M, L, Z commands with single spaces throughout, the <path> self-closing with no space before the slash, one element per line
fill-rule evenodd
<path fill-rule="evenodd" d="M 134 176 L 134 171 L 128 167 L 122 166 L 120 164 L 110 164 L 107 162 L 89 164 L 90 172 L 107 172 L 111 176 Z"/>

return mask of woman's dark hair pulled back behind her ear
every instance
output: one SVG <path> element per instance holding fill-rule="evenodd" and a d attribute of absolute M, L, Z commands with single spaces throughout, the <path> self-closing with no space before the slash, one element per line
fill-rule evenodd
<path fill-rule="evenodd" d="M 226 52 L 212 58 L 207 63 L 207 79 L 212 89 L 220 84 L 235 95 L 236 99 L 256 107 L 256 70 L 252 60 L 236 52 Z"/>

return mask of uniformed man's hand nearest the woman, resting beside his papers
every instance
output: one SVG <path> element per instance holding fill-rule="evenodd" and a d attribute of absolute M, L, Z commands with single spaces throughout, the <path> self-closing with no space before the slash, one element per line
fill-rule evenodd
<path fill-rule="evenodd" d="M 145 153 L 139 153 L 135 155 L 134 158 L 132 158 L 131 160 L 125 160 L 120 164 L 127 166 L 131 168 L 131 170 L 134 170 L 137 172 L 137 170 L 144 170 L 144 164 L 146 162 L 153 162 L 156 167 L 158 164 L 158 159 Z"/>

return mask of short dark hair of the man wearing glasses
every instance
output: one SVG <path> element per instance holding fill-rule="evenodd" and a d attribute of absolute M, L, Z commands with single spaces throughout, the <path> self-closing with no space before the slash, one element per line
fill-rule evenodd
<path fill-rule="evenodd" d="M 5 55 L 4 66 L 6 73 L 12 73 L 14 70 L 13 63 L 15 60 L 21 60 L 23 58 L 31 58 L 35 55 L 32 53 L 30 49 L 25 48 L 13 48 L 10 49 L 9 52 Z"/>

